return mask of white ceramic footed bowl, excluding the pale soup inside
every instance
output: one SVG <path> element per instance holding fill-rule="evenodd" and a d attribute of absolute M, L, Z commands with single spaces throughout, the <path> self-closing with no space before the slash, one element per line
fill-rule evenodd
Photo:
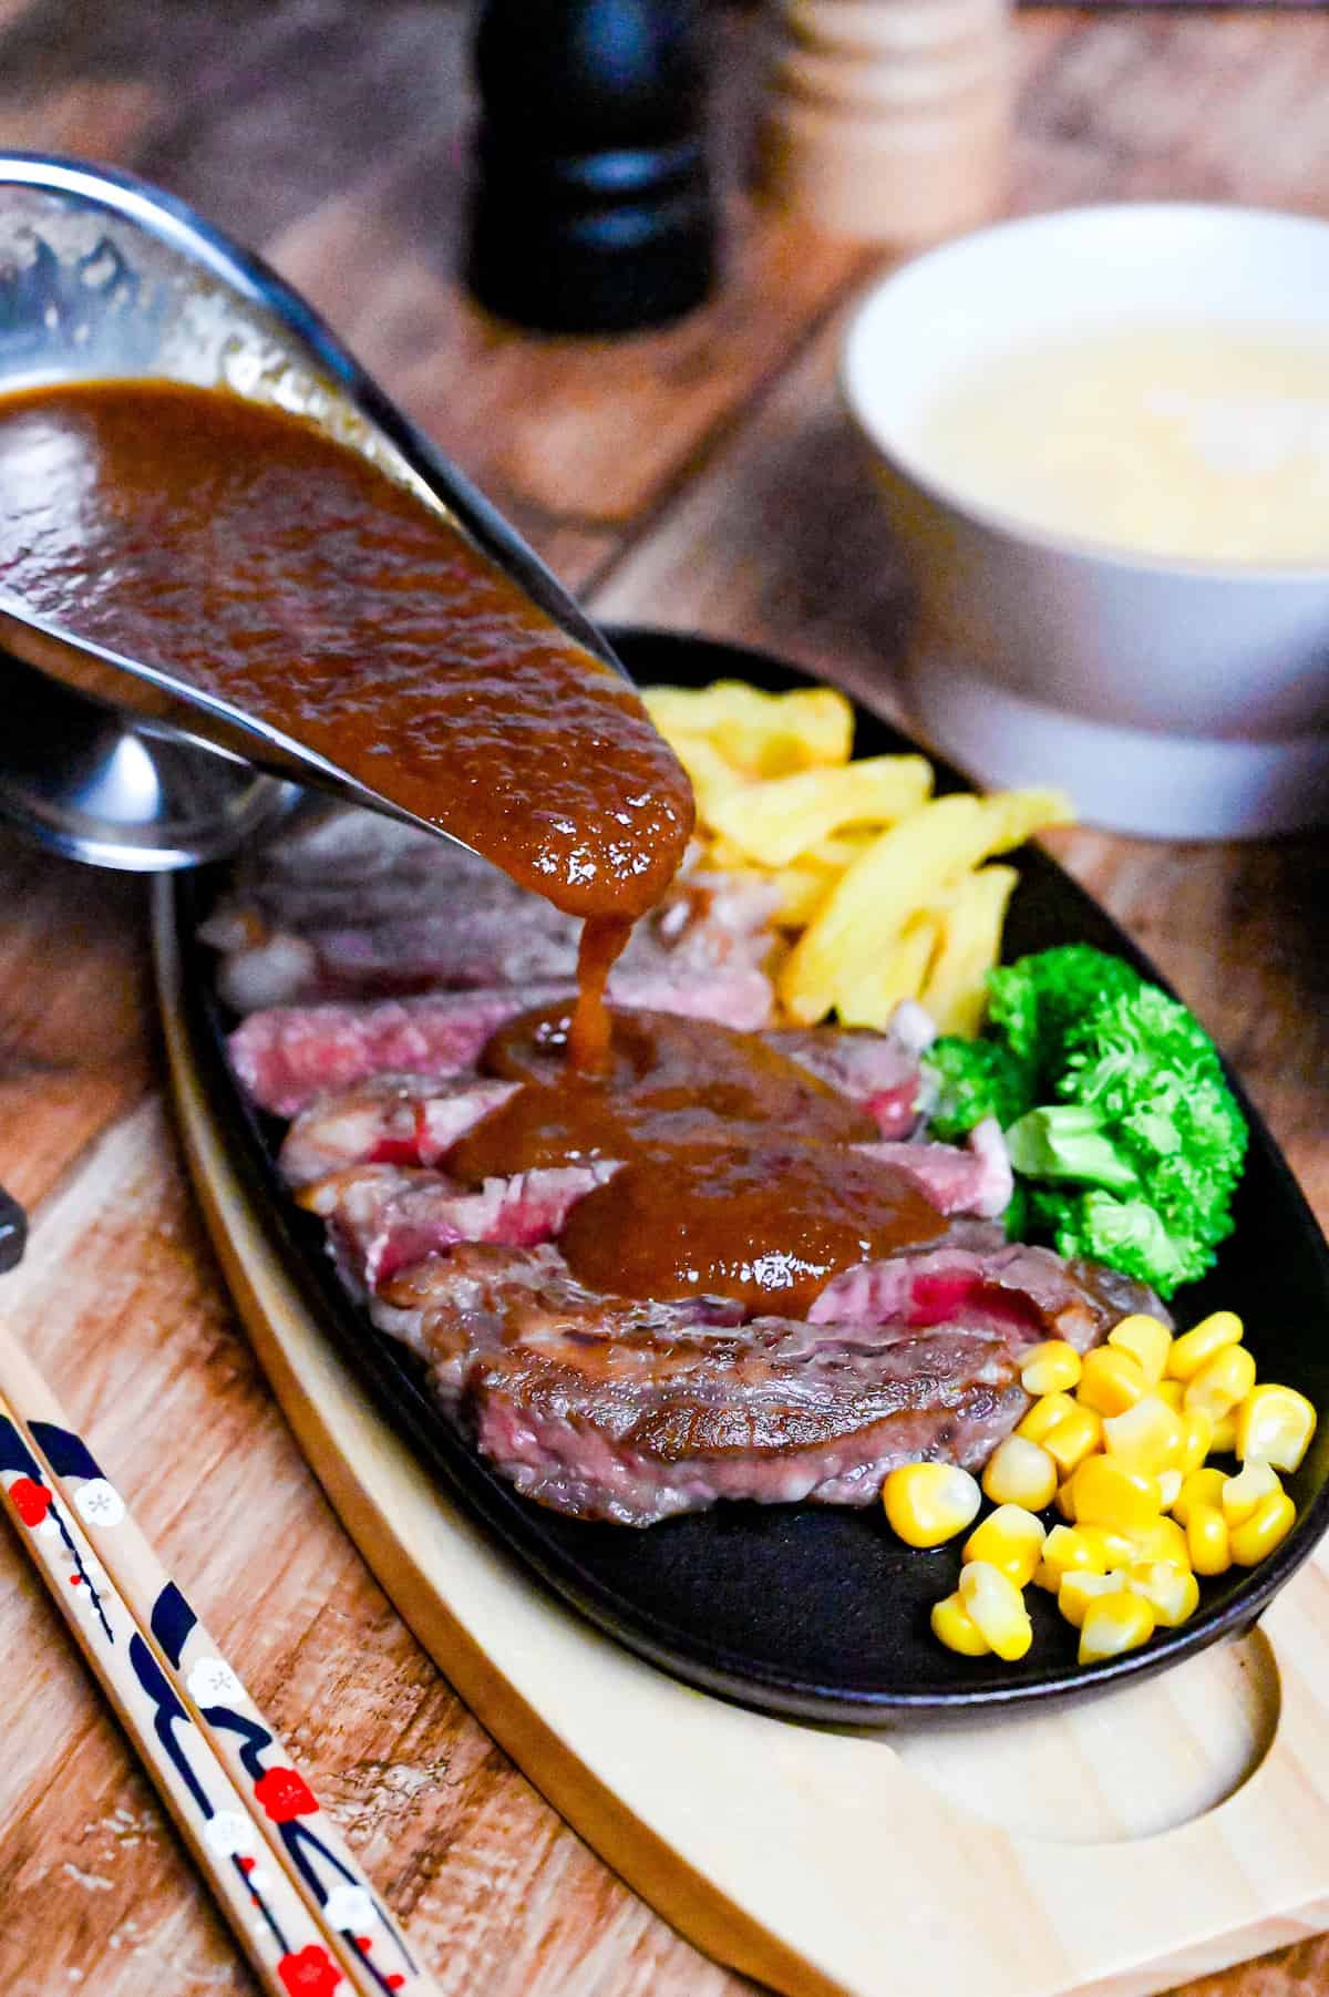
<path fill-rule="evenodd" d="M 1181 324 L 1329 351 L 1329 224 L 1062 210 L 946 244 L 866 298 L 842 387 L 920 591 L 914 705 L 972 773 L 1062 781 L 1090 823 L 1177 839 L 1323 823 L 1329 561 L 1237 567 L 1058 537 L 938 479 L 918 443 L 920 409 L 984 359 Z"/>

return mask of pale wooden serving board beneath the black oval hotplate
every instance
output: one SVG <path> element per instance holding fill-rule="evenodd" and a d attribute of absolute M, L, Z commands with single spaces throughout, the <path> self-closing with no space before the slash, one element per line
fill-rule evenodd
<path fill-rule="evenodd" d="M 1259 1632 L 1072 1709 L 860 1731 L 674 1681 L 547 1596 L 365 1404 L 210 1118 L 166 883 L 154 929 L 200 1202 L 309 1464 L 483 1725 L 698 1947 L 792 1997 L 1127 1997 L 1329 1923 L 1323 1550 Z"/>

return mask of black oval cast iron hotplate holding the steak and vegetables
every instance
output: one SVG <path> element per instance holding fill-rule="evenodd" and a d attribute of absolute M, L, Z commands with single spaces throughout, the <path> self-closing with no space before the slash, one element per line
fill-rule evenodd
<path fill-rule="evenodd" d="M 639 685 L 750 679 L 768 689 L 808 685 L 806 675 L 760 653 L 663 631 L 619 631 L 615 645 Z M 858 711 L 856 751 L 914 749 L 904 735 Z M 936 759 L 934 759 L 936 761 Z M 1054 773 L 1050 773 L 1054 775 Z M 938 765 L 940 789 L 962 789 Z M 1129 957 L 1157 977 L 1115 923 L 1036 847 L 1018 857 L 1020 887 L 1006 955 L 1086 941 Z M 958 1552 L 900 1546 L 880 1508 L 716 1506 L 647 1532 L 583 1524 L 519 1498 L 449 1428 L 421 1376 L 377 1336 L 339 1288 L 323 1254 L 321 1224 L 287 1198 L 273 1168 L 279 1126 L 255 1116 L 225 1064 L 229 1018 L 214 997 L 214 965 L 194 931 L 223 875 L 178 883 L 188 1030 L 212 1114 L 269 1216 L 269 1232 L 309 1310 L 327 1326 L 387 1420 L 453 1494 L 559 1596 L 611 1636 L 710 1691 L 770 1711 L 856 1723 L 906 1709 L 1070 1697 L 1155 1671 L 1219 1636 L 1251 1626 L 1269 1596 L 1305 1560 L 1329 1524 L 1329 1422 L 1291 1480 L 1299 1518 L 1261 1568 L 1207 1582 L 1197 1616 L 1161 1632 L 1127 1658 L 1080 1669 L 1076 1634 L 1054 1598 L 1032 1588 L 1034 1648 L 1022 1664 L 958 1658 L 932 1638 L 928 1612 L 954 1588 Z M 1241 1312 L 1261 1376 L 1285 1380 L 1329 1410 L 1329 1250 L 1277 1146 L 1251 1104 L 1251 1154 L 1237 1198 L 1237 1228 L 1219 1266 L 1175 1304 L 1193 1322 L 1219 1304 Z"/>

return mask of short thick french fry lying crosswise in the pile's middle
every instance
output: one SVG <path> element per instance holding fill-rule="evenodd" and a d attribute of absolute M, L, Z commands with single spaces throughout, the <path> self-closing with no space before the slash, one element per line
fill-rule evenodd
<path fill-rule="evenodd" d="M 874 755 L 840 769 L 804 769 L 728 791 L 714 827 L 762 867 L 788 867 L 808 847 L 850 825 L 894 825 L 932 791 L 920 755 Z"/>

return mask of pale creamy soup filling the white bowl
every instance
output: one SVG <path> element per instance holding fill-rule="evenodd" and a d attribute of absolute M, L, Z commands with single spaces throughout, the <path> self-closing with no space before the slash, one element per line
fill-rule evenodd
<path fill-rule="evenodd" d="M 1161 559 L 1329 563 L 1329 337 L 1137 326 L 1012 347 L 920 409 L 928 479 Z"/>

